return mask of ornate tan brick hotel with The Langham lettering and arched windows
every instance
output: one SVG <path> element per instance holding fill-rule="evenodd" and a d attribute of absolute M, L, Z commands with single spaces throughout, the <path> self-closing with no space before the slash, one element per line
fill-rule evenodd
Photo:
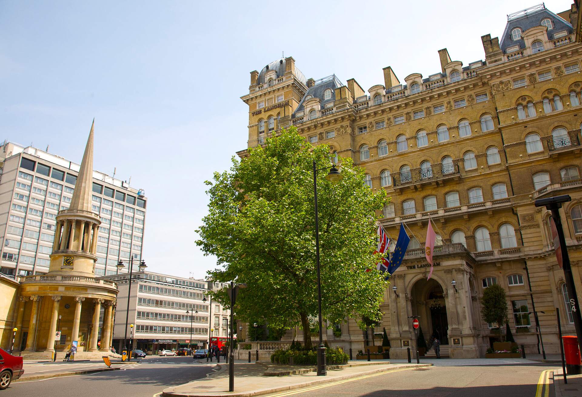
<path fill-rule="evenodd" d="M 559 352 L 556 307 L 562 330 L 574 332 L 549 213 L 534 201 L 572 196 L 562 219 L 582 297 L 578 20 L 576 5 L 558 14 L 544 5 L 522 10 L 508 16 L 501 37 L 481 37 L 484 60 L 464 66 L 441 49 L 434 74 L 400 81 L 388 66 L 384 81 L 367 91 L 353 78 L 345 84 L 336 76 L 306 79 L 291 57 L 250 73 L 249 94 L 242 96 L 249 147 L 296 126 L 311 143 L 329 145 L 335 161 L 349 157 L 364 167 L 371 189 L 386 190 L 392 202 L 381 224 L 393 241 L 400 223 L 410 228 L 376 330 L 386 328 L 392 357 L 414 346 L 413 315 L 425 338 L 439 336 L 443 354 L 484 355 L 496 337 L 495 324 L 481 317 L 482 293 L 491 284 L 505 289 L 509 326 L 526 353 L 540 346 L 534 305 L 547 353 Z M 429 219 L 439 235 L 427 280 Z M 345 348 L 371 344 L 353 319 L 330 326 L 325 336 Z"/>

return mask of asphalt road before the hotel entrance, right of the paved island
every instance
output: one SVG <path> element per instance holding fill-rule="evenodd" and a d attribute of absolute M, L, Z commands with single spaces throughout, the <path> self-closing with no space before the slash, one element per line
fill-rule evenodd
<path fill-rule="evenodd" d="M 544 370 L 556 365 L 520 364 L 427 367 L 372 375 L 359 380 L 268 395 L 270 397 L 535 397 Z M 553 397 L 552 381 L 548 394 Z"/>

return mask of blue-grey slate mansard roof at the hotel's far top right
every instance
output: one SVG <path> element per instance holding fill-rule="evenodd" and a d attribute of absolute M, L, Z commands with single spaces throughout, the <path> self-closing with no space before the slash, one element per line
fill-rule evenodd
<path fill-rule="evenodd" d="M 514 45 L 519 45 L 520 49 L 526 48 L 526 44 L 523 38 L 520 38 L 519 40 L 512 39 L 511 31 L 514 28 L 519 27 L 521 29 L 521 33 L 523 34 L 528 29 L 536 26 L 542 26 L 542 20 L 546 18 L 550 19 L 553 24 L 553 29 L 548 30 L 547 33 L 548 40 L 553 40 L 554 33 L 558 33 L 564 30 L 566 30 L 568 34 L 572 33 L 572 25 L 570 23 L 567 23 L 555 13 L 544 8 L 509 20 L 505 25 L 505 30 L 503 31 L 503 35 L 499 41 L 499 47 L 504 53 L 506 52 L 506 49 L 513 47 Z"/>

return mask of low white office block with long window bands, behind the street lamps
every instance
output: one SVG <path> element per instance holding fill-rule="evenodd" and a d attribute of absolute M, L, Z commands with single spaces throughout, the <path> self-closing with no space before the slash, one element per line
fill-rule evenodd
<path fill-rule="evenodd" d="M 226 338 L 230 310 L 207 295 L 209 289 L 221 289 L 223 284 L 140 271 L 137 262 L 134 266 L 131 294 L 129 274 L 104 277 L 119 288 L 113 328 L 113 346 L 118 351 L 125 346 L 124 338 L 129 345 L 132 334 L 132 348 L 154 354 L 162 349 L 205 348 L 211 336 Z M 134 324 L 133 332 L 130 324 Z"/>

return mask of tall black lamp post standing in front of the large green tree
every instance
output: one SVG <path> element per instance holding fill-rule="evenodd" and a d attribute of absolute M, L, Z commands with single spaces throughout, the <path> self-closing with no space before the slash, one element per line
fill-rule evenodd
<path fill-rule="evenodd" d="M 319 312 L 319 326 L 320 326 L 320 345 L 317 347 L 317 375 L 327 375 L 327 366 L 325 364 L 325 345 L 323 340 L 323 325 L 321 318 L 321 271 L 320 271 L 320 230 L 319 217 L 317 213 L 317 171 L 329 170 L 325 179 L 332 183 L 342 180 L 343 175 L 339 173 L 338 169 L 333 164 L 330 167 L 317 169 L 315 160 L 313 160 L 313 202 L 315 206 L 315 262 L 317 263 L 317 305 Z"/>

